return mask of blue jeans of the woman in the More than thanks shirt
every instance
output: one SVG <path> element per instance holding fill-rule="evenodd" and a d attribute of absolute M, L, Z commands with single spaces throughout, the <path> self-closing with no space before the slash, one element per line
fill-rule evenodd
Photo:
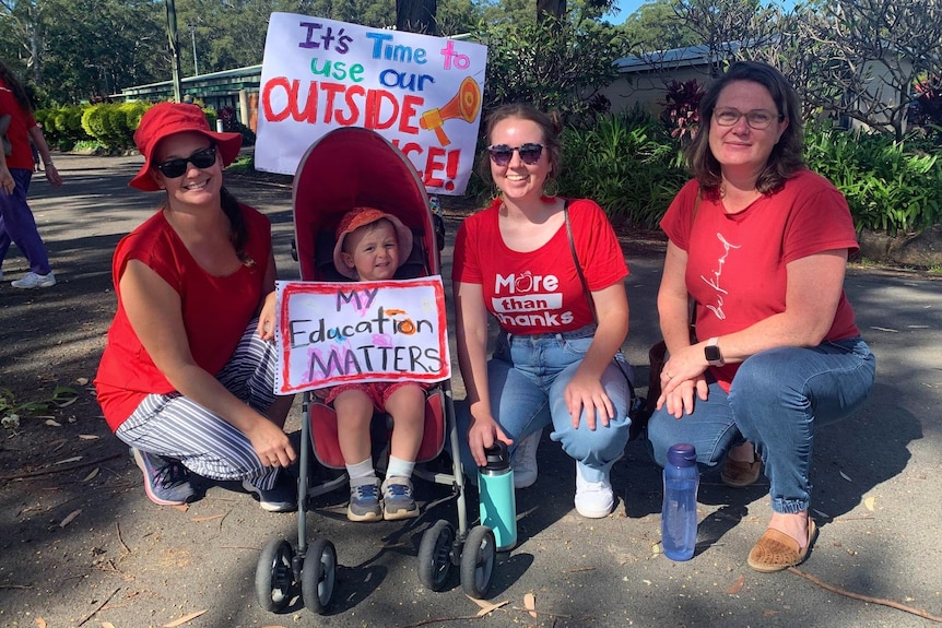
<path fill-rule="evenodd" d="M 550 438 L 562 442 L 563 450 L 581 464 L 587 482 L 608 478 L 612 464 L 622 457 L 631 426 L 631 392 L 625 374 L 631 376 L 632 367 L 622 362 L 623 371 L 613 362 L 602 374 L 602 386 L 615 408 L 615 417 L 605 427 L 597 416 L 596 429 L 590 430 L 584 411 L 579 427 L 573 427 L 564 392 L 589 351 L 594 332 L 596 327 L 589 325 L 556 334 L 502 333 L 494 356 L 487 363 L 491 414 L 514 439 L 514 446 L 552 424 Z M 619 357 L 623 360 L 621 355 Z M 460 404 L 459 434 L 466 435 L 470 425 L 468 404 Z M 466 473 L 472 472 L 476 464 L 471 458 L 468 439 L 459 440 Z"/>

